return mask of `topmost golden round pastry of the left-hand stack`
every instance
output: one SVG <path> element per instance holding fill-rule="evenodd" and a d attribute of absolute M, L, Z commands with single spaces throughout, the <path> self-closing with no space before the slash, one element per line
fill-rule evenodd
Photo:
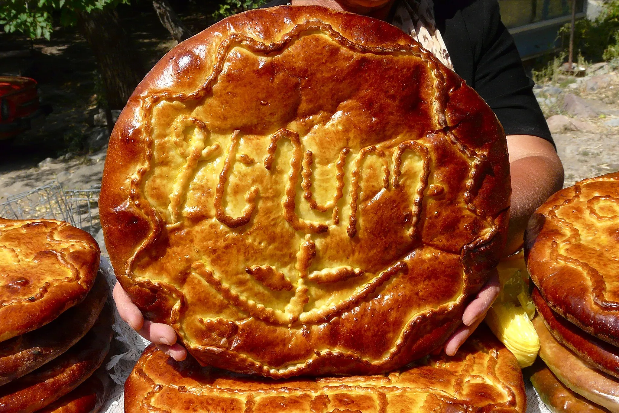
<path fill-rule="evenodd" d="M 0 341 L 80 303 L 95 282 L 99 254 L 89 233 L 66 222 L 0 218 Z"/>

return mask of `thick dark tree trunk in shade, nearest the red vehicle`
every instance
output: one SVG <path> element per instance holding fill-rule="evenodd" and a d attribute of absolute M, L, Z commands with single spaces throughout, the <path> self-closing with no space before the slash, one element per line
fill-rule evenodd
<path fill-rule="evenodd" d="M 145 75 L 131 38 L 111 7 L 78 12 L 77 25 L 95 54 L 109 109 L 122 109 Z"/>

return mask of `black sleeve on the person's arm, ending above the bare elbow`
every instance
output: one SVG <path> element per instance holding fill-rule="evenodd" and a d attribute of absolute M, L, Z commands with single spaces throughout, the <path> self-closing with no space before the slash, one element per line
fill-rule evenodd
<path fill-rule="evenodd" d="M 539 103 L 533 94 L 533 80 L 524 72 L 514 39 L 501 22 L 496 0 L 478 0 L 483 7 L 481 39 L 474 47 L 474 88 L 499 118 L 506 135 L 539 136 L 554 145 Z M 464 20 L 473 23 L 472 10 Z M 477 18 L 480 20 L 479 18 Z"/>

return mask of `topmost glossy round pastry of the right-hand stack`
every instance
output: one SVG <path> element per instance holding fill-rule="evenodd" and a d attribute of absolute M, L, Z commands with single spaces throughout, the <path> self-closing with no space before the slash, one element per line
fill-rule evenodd
<path fill-rule="evenodd" d="M 619 346 L 619 172 L 561 189 L 529 220 L 527 266 L 545 302 Z"/>

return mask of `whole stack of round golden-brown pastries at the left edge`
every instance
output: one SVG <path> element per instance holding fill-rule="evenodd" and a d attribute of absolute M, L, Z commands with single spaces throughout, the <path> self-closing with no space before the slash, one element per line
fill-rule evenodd
<path fill-rule="evenodd" d="M 0 412 L 96 412 L 111 341 L 100 251 L 66 222 L 0 218 Z"/>

